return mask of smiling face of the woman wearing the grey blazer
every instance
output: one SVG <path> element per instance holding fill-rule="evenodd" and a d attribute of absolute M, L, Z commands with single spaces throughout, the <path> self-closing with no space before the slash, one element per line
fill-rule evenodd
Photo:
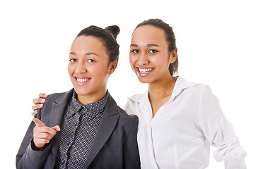
<path fill-rule="evenodd" d="M 69 76 L 78 96 L 97 96 L 106 91 L 113 63 L 100 39 L 80 36 L 74 39 L 69 54 Z"/>

